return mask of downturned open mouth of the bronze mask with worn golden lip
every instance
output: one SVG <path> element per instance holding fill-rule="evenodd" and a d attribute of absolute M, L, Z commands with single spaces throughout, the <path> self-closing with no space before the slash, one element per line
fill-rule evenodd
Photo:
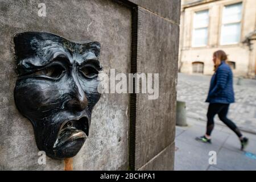
<path fill-rule="evenodd" d="M 86 117 L 82 117 L 78 120 L 71 120 L 64 122 L 60 128 L 59 135 L 56 139 L 53 148 L 57 148 L 71 142 L 73 140 L 83 138 L 86 139 L 89 135 L 89 120 Z"/>

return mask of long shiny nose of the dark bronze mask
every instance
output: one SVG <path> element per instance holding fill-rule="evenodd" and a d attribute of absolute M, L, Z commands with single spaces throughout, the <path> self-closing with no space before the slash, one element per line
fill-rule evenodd
<path fill-rule="evenodd" d="M 66 104 L 69 109 L 82 111 L 88 105 L 88 100 L 84 90 L 82 90 L 81 84 L 76 76 L 76 73 L 71 73 L 71 79 L 69 81 L 69 90 L 73 96 Z"/>

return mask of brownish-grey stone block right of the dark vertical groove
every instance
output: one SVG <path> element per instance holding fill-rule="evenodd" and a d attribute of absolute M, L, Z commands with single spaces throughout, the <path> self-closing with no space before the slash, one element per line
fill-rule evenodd
<path fill-rule="evenodd" d="M 159 73 L 159 98 L 137 94 L 135 169 L 174 142 L 178 47 L 179 26 L 139 7 L 137 71 Z"/>

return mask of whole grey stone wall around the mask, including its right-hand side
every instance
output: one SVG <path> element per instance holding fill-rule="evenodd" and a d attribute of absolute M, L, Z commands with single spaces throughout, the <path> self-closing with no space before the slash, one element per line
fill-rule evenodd
<path fill-rule="evenodd" d="M 38 16 L 42 2 L 46 17 Z M 6 0 L 0 8 L 1 170 L 64 169 L 63 160 L 47 158 L 46 165 L 38 164 L 31 123 L 14 104 L 12 39 L 25 31 L 100 42 L 100 61 L 108 74 L 110 68 L 130 73 L 131 65 L 137 72 L 159 73 L 158 100 L 148 100 L 146 94 L 137 94 L 135 102 L 129 94 L 101 96 L 92 113 L 89 138 L 73 158 L 74 170 L 174 168 L 179 0 Z M 134 119 L 131 107 L 136 111 Z"/>

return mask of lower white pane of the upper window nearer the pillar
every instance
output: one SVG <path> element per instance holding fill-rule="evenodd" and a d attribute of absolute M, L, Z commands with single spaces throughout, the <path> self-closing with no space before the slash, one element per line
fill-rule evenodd
<path fill-rule="evenodd" d="M 193 47 L 207 46 L 208 28 L 199 28 L 193 31 Z"/>

